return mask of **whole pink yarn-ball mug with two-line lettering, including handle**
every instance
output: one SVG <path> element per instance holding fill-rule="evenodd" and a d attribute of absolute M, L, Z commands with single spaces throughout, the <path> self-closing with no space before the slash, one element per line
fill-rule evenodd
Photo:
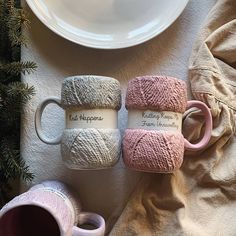
<path fill-rule="evenodd" d="M 212 117 L 200 101 L 187 101 L 184 81 L 167 76 L 142 76 L 131 80 L 126 94 L 128 127 L 123 137 L 127 167 L 146 172 L 169 173 L 180 168 L 185 149 L 199 150 L 209 142 Z M 205 133 L 191 144 L 182 133 L 182 114 L 191 107 L 202 110 Z"/>

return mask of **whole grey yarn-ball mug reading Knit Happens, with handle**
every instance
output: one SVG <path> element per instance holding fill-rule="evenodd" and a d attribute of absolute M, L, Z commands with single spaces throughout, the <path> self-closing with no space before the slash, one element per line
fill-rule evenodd
<path fill-rule="evenodd" d="M 61 137 L 49 139 L 42 131 L 41 116 L 49 103 L 66 112 L 66 128 Z M 47 144 L 61 144 L 61 155 L 71 169 L 103 169 L 120 156 L 117 112 L 121 107 L 120 83 L 104 76 L 82 75 L 66 78 L 61 99 L 50 97 L 35 113 L 38 137 Z"/>

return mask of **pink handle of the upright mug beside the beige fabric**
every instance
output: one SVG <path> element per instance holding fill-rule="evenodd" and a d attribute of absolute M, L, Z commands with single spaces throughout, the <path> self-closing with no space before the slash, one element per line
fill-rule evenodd
<path fill-rule="evenodd" d="M 211 138 L 212 116 L 211 116 L 210 109 L 203 102 L 188 101 L 187 102 L 187 109 L 190 109 L 192 107 L 197 107 L 200 110 L 202 110 L 202 112 L 204 114 L 204 117 L 205 117 L 205 120 L 206 120 L 205 132 L 204 132 L 203 138 L 196 144 L 190 143 L 187 139 L 184 139 L 184 147 L 186 149 L 191 149 L 191 150 L 197 151 L 197 150 L 200 150 L 200 149 L 204 148 L 208 144 L 208 142 Z"/>

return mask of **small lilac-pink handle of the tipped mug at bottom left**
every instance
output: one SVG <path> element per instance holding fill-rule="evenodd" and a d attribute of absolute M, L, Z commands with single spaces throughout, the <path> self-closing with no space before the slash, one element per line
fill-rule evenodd
<path fill-rule="evenodd" d="M 102 216 L 90 213 L 90 212 L 81 212 L 79 214 L 79 224 L 92 224 L 96 229 L 82 229 L 78 226 L 73 226 L 72 236 L 104 236 L 105 234 L 105 220 Z"/>

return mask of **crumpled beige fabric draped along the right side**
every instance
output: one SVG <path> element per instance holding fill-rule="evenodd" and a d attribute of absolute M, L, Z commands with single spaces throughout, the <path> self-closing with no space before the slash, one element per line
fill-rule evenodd
<path fill-rule="evenodd" d="M 208 147 L 186 152 L 181 170 L 147 174 L 110 235 L 236 235 L 236 1 L 218 0 L 190 59 L 193 96 L 213 116 Z M 192 142 L 203 131 L 191 111 L 184 134 Z"/>

